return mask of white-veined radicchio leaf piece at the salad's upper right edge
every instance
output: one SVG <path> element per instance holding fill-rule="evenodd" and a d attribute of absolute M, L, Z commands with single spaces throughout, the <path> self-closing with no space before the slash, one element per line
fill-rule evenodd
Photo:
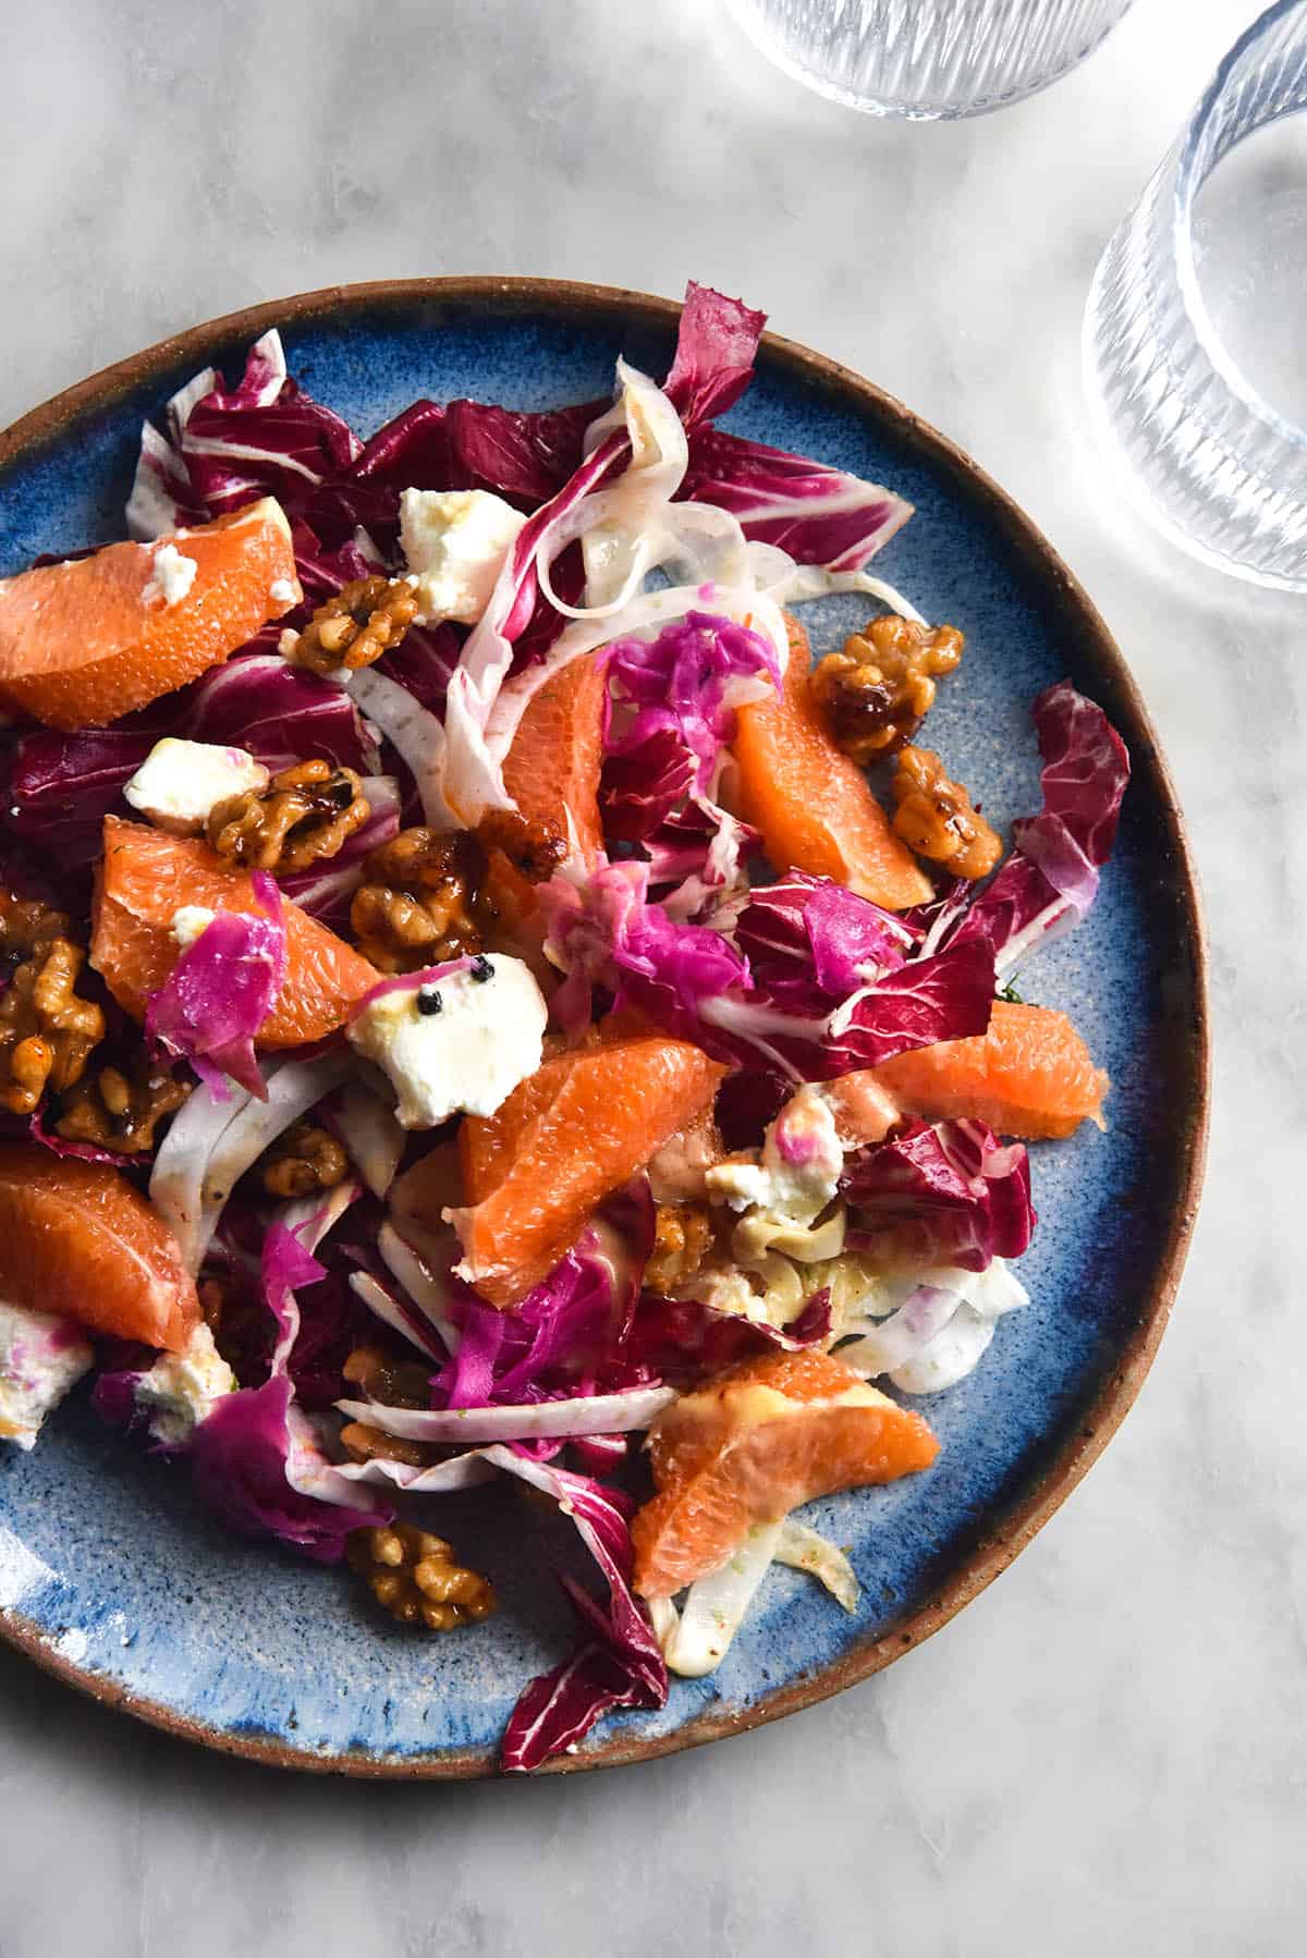
<path fill-rule="evenodd" d="M 784 550 L 796 564 L 856 572 L 911 517 L 911 503 L 843 470 L 700 429 L 680 488 L 696 503 L 727 509 L 747 538 Z"/>

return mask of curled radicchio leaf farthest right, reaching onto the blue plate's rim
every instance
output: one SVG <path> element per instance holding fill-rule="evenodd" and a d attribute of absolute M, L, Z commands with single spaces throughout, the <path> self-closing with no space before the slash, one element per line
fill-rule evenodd
<path fill-rule="evenodd" d="M 1068 679 L 1039 695 L 1035 728 L 1044 807 L 1013 824 L 1011 856 L 952 934 L 992 948 L 999 983 L 1089 910 L 1131 779 L 1125 742 Z"/>

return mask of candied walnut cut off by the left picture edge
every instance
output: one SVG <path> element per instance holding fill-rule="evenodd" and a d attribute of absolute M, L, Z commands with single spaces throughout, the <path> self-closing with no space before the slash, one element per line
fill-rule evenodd
<path fill-rule="evenodd" d="M 76 993 L 86 952 L 67 930 L 63 912 L 0 893 L 0 954 L 18 961 L 0 993 L 0 1108 L 12 1114 L 80 1081 L 104 1040 L 104 1008 Z"/>

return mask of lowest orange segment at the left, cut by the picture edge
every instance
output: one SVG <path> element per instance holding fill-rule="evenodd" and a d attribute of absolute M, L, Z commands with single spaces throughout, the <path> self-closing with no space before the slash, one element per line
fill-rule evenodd
<path fill-rule="evenodd" d="M 0 1143 L 0 1294 L 178 1353 L 200 1324 L 172 1232 L 106 1163 Z"/>

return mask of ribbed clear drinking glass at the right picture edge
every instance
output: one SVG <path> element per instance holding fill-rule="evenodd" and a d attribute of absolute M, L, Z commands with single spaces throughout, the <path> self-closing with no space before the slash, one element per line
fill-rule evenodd
<path fill-rule="evenodd" d="M 1307 0 L 1225 57 L 1093 278 L 1089 409 L 1140 507 L 1307 591 Z"/>

